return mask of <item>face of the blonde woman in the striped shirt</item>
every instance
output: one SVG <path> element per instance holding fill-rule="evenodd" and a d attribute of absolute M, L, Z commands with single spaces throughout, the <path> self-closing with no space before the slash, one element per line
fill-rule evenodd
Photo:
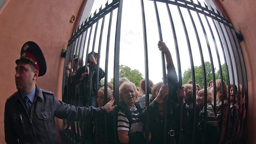
<path fill-rule="evenodd" d="M 135 102 L 135 90 L 134 87 L 129 85 L 126 86 L 122 92 L 122 98 L 124 99 L 124 103 L 127 104 L 128 106 L 133 106 Z"/>

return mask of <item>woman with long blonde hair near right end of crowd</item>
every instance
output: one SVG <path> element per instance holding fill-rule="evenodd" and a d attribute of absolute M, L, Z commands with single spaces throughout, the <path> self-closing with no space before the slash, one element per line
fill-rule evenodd
<path fill-rule="evenodd" d="M 224 91 L 221 88 L 221 79 L 216 80 L 216 97 L 217 97 L 217 110 L 216 119 L 218 121 L 218 126 L 220 129 L 219 144 L 222 144 L 225 139 L 226 124 L 228 120 L 228 87 L 224 81 L 222 81 Z M 224 100 L 224 103 L 222 103 Z M 221 126 L 221 127 L 220 127 Z M 228 134 L 228 133 L 227 133 Z"/>

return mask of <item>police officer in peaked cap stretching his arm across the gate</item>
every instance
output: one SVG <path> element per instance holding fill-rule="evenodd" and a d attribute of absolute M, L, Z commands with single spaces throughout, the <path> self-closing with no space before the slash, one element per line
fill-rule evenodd
<path fill-rule="evenodd" d="M 105 106 L 75 107 L 59 101 L 53 92 L 36 85 L 37 77 L 46 73 L 46 62 L 40 47 L 26 42 L 16 61 L 17 92 L 6 100 L 4 132 L 7 144 L 56 144 L 54 117 L 82 121 L 111 112 L 114 99 Z"/>

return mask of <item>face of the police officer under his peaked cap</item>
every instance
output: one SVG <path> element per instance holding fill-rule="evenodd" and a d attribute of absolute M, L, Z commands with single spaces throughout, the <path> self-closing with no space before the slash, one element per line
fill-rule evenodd
<path fill-rule="evenodd" d="M 19 62 L 15 67 L 15 84 L 17 90 L 20 90 L 23 94 L 28 94 L 34 88 L 37 74 L 32 70 L 30 64 Z"/>

